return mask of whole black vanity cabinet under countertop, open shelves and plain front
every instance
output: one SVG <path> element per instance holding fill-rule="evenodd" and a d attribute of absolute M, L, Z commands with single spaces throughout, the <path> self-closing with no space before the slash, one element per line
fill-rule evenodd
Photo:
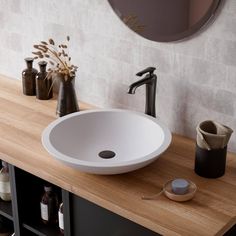
<path fill-rule="evenodd" d="M 125 219 L 47 181 L 9 165 L 12 201 L 0 200 L 0 217 L 16 236 L 61 236 L 58 224 L 45 225 L 40 216 L 44 186 L 50 184 L 63 202 L 65 236 L 158 236 L 159 234 Z M 227 236 L 236 235 L 233 227 Z"/>

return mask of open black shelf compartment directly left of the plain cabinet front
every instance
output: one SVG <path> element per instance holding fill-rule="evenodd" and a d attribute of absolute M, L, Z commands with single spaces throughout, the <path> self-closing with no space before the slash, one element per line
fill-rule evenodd
<path fill-rule="evenodd" d="M 40 201 L 45 185 L 52 186 L 59 202 L 63 201 L 62 197 L 65 195 L 64 190 L 19 168 L 12 167 L 11 172 L 14 176 L 13 181 L 17 199 L 16 207 L 21 235 L 23 235 L 22 232 L 28 231 L 38 236 L 61 236 L 58 223 L 55 225 L 45 225 L 42 222 Z M 66 227 L 68 228 L 69 226 L 66 225 Z"/>

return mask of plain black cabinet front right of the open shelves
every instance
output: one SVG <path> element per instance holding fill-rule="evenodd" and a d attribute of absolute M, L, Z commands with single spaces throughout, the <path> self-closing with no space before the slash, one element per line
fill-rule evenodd
<path fill-rule="evenodd" d="M 75 236 L 157 236 L 141 225 L 127 220 L 83 198 L 71 195 L 71 225 Z"/>

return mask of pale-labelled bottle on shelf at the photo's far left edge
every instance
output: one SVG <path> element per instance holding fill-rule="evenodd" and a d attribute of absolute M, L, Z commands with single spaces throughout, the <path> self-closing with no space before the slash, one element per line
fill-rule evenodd
<path fill-rule="evenodd" d="M 11 201 L 9 169 L 5 161 L 2 161 L 2 169 L 0 170 L 0 198 L 3 201 Z"/>

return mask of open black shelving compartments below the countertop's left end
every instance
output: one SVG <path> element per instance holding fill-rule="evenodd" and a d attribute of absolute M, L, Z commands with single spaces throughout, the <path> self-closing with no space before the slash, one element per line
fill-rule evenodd
<path fill-rule="evenodd" d="M 0 169 L 1 160 L 0 160 Z M 11 184 L 11 201 L 3 201 L 0 198 L 0 217 L 6 218 L 12 224 L 12 233 L 16 236 L 62 236 L 58 224 L 45 225 L 41 221 L 40 201 L 44 193 L 44 186 L 50 185 L 57 194 L 59 202 L 66 201 L 64 205 L 69 209 L 69 193 L 58 186 L 27 173 L 17 167 L 9 165 Z M 70 234 L 70 216 L 64 223 L 65 233 Z M 65 215 L 65 214 L 64 214 Z"/>

